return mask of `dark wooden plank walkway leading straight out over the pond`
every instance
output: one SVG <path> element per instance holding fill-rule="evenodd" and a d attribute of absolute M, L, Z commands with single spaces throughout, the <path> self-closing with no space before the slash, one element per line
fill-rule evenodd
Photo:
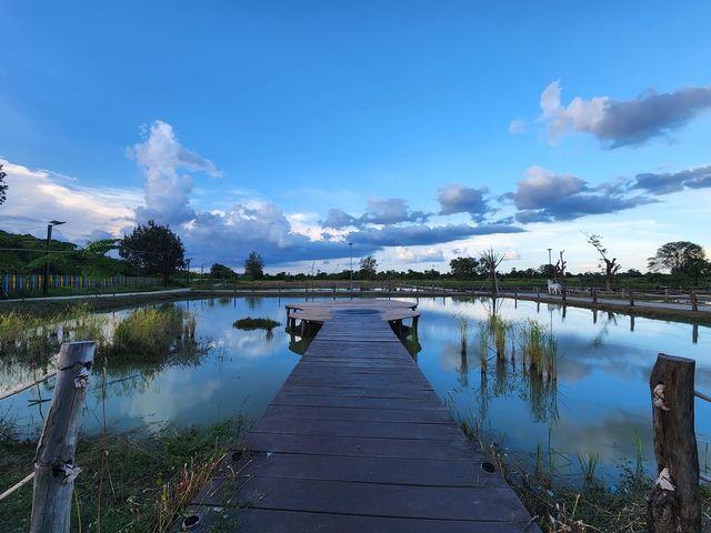
<path fill-rule="evenodd" d="M 176 531 L 540 532 L 378 302 L 330 305 Z"/>

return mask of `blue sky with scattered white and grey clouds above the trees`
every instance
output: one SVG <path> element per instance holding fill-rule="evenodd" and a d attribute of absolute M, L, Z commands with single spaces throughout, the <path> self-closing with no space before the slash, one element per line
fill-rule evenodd
<path fill-rule="evenodd" d="M 679 2 L 681 3 L 681 2 Z M 0 0 L 0 228 L 192 264 L 711 250 L 709 2 Z"/>

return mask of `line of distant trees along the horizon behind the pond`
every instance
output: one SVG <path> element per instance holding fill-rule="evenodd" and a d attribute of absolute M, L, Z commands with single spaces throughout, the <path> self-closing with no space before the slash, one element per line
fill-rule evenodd
<path fill-rule="evenodd" d="M 3 191 L 0 191 L 3 192 Z M 583 272 L 574 274 L 579 279 L 590 282 L 604 280 L 609 289 L 621 278 L 647 278 L 649 281 L 661 280 L 660 273 L 668 271 L 673 279 L 685 279 L 698 284 L 699 279 L 711 275 L 711 262 L 705 258 L 702 247 L 689 241 L 668 242 L 660 247 L 655 254 L 648 259 L 649 271 L 642 274 L 639 270 L 629 269 L 622 272 L 622 265 L 617 258 L 611 257 L 597 234 L 588 234 L 589 242 L 600 260 L 599 272 Z M 77 244 L 52 240 L 49 247 L 43 240 L 32 235 L 18 235 L 0 230 L 0 271 L 17 273 L 42 273 L 46 262 L 51 265 L 51 273 L 82 274 L 82 275 L 160 275 L 168 284 L 170 278 L 178 271 L 190 268 L 190 258 L 186 258 L 186 248 L 180 239 L 168 225 L 148 221 L 138 224 L 122 239 L 104 239 L 88 243 L 80 248 Z M 109 253 L 116 250 L 118 258 Z M 483 251 L 479 257 L 459 257 L 449 262 L 449 271 L 440 272 L 432 269 L 417 271 L 378 270 L 378 261 L 368 255 L 359 260 L 358 270 L 342 270 L 341 272 L 321 272 L 312 268 L 310 273 L 290 274 L 264 272 L 264 260 L 257 251 L 251 251 L 244 260 L 244 273 L 238 274 L 232 268 L 221 263 L 210 266 L 209 276 L 220 280 L 303 280 L 309 278 L 321 280 L 489 280 L 500 279 L 553 279 L 561 283 L 573 274 L 567 271 L 564 251 L 558 252 L 555 263 L 541 264 L 537 268 L 511 269 L 499 272 L 503 255 L 493 250 Z"/>

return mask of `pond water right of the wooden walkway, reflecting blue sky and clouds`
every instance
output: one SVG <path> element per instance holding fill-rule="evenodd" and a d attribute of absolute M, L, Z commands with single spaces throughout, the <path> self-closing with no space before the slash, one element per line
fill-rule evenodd
<path fill-rule="evenodd" d="M 599 453 L 601 472 L 617 475 L 618 465 L 634 459 L 635 432 L 651 469 L 648 380 L 658 353 L 695 359 L 697 389 L 711 390 L 711 344 L 704 342 L 704 326 L 530 301 L 458 299 L 447 309 L 422 301 L 419 310 L 419 364 L 452 410 L 531 456 L 537 444 L 548 445 L 550 431 L 551 446 L 572 457 L 573 471 L 579 467 L 577 453 Z M 475 325 L 488 329 L 494 310 L 502 321 L 537 320 L 552 329 L 558 339 L 555 381 L 530 372 L 520 339 L 508 338 L 504 358 L 493 341 L 481 356 L 481 330 Z M 459 350 L 454 319 L 460 314 L 474 325 L 465 355 Z M 711 441 L 710 405 L 695 406 L 700 455 Z"/>

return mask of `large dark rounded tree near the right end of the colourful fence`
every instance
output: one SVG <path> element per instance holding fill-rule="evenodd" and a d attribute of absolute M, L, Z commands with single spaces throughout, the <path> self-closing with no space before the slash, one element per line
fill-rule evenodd
<path fill-rule="evenodd" d="M 168 225 L 152 220 L 133 228 L 130 235 L 123 235 L 119 255 L 139 270 L 162 275 L 164 285 L 170 274 L 186 265 L 186 249 L 180 238 Z"/>

